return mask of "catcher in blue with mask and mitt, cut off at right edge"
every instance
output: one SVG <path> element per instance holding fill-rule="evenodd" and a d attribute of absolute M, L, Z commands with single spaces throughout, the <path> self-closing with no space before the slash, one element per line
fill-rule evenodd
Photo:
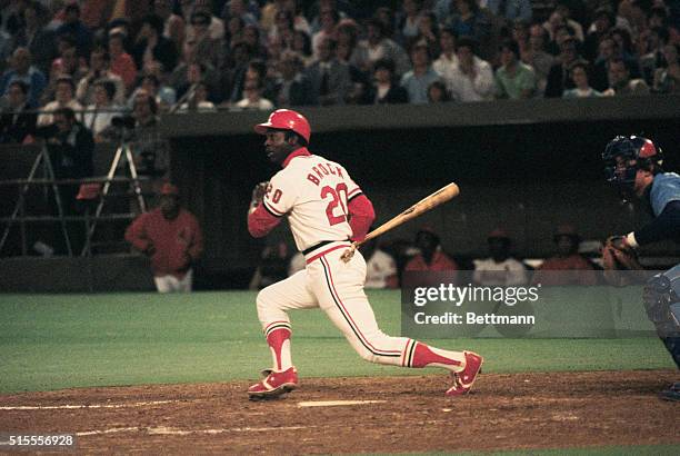
<path fill-rule="evenodd" d="M 602 153 L 608 180 L 624 198 L 649 202 L 653 220 L 626 236 L 609 238 L 602 252 L 606 269 L 638 269 L 634 250 L 663 239 L 680 241 L 680 176 L 663 172 L 663 157 L 651 140 L 638 136 L 612 139 Z M 622 267 L 619 267 L 622 266 Z M 652 277 L 644 288 L 647 315 L 680 368 L 680 265 Z M 680 383 L 661 393 L 680 400 Z"/>

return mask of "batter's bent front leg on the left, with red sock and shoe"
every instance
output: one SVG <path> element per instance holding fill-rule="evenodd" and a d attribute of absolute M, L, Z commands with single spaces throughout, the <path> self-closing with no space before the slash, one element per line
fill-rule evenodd
<path fill-rule="evenodd" d="M 276 397 L 298 385 L 298 374 L 291 356 L 292 331 L 288 310 L 318 307 L 314 296 L 307 287 L 306 276 L 307 272 L 301 270 L 258 294 L 258 318 L 271 350 L 272 367 L 264 369 L 264 378 L 248 388 L 250 398 Z"/>

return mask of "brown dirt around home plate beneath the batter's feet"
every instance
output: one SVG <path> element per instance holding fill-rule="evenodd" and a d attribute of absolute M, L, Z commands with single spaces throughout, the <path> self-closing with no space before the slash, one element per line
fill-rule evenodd
<path fill-rule="evenodd" d="M 680 404 L 657 398 L 678 373 L 482 375 L 446 398 L 443 375 L 302 378 L 263 403 L 246 381 L 0 396 L 0 432 L 76 434 L 79 453 L 490 450 L 678 444 Z M 354 405 L 320 402 L 361 400 Z M 308 404 L 304 404 L 308 403 Z"/>

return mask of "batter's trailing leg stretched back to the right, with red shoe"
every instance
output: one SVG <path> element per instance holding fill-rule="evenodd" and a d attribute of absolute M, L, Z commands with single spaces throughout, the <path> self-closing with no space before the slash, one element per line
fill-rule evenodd
<path fill-rule="evenodd" d="M 354 255 L 349 262 L 344 262 L 340 260 L 342 250 L 330 252 L 308 265 L 310 287 L 321 309 L 359 355 L 378 364 L 442 367 L 454 375 L 456 385 L 449 394 L 469 390 L 482 358 L 471 351 L 444 350 L 382 333 L 363 291 L 366 262 L 362 256 Z"/>

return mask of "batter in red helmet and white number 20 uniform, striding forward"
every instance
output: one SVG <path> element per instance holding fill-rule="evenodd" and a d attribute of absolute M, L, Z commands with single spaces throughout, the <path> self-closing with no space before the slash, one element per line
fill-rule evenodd
<path fill-rule="evenodd" d="M 306 268 L 258 294 L 258 317 L 273 366 L 248 388 L 249 397 L 271 398 L 298 387 L 288 310 L 310 308 L 321 308 L 363 359 L 403 367 L 442 367 L 453 378 L 446 395 L 468 393 L 481 368 L 481 356 L 390 337 L 378 328 L 363 291 L 363 257 L 357 254 L 348 262 L 340 259 L 352 240 L 366 237 L 374 218 L 373 206 L 341 165 L 307 149 L 311 133 L 307 119 L 279 109 L 254 130 L 267 137 L 267 157 L 282 169 L 253 190 L 248 230 L 253 237 L 262 237 L 288 218 Z"/>

